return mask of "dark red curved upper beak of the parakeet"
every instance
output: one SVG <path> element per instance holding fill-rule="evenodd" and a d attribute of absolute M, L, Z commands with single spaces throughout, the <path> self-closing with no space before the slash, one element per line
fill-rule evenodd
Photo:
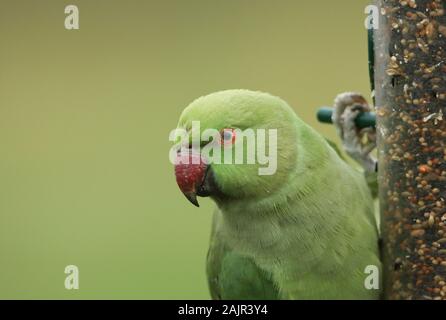
<path fill-rule="evenodd" d="M 199 207 L 197 201 L 197 189 L 204 183 L 207 165 L 202 156 L 188 150 L 177 154 L 175 161 L 175 177 L 178 187 L 186 198 L 195 206 Z"/>

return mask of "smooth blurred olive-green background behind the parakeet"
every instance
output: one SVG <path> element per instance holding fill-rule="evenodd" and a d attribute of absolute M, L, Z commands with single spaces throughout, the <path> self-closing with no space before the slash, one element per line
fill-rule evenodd
<path fill-rule="evenodd" d="M 213 204 L 178 190 L 169 132 L 193 99 L 247 88 L 333 137 L 316 109 L 370 93 L 368 3 L 1 0 L 0 298 L 208 299 Z"/>

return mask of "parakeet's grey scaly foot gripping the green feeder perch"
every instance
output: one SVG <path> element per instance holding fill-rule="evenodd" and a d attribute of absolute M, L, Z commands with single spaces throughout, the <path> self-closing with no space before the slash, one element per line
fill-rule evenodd
<path fill-rule="evenodd" d="M 371 111 L 367 101 L 358 93 L 342 93 L 336 97 L 334 108 L 332 120 L 345 152 L 366 172 L 376 171 L 377 160 L 371 155 L 376 148 L 376 129 L 359 129 L 355 123 L 360 113 Z"/>

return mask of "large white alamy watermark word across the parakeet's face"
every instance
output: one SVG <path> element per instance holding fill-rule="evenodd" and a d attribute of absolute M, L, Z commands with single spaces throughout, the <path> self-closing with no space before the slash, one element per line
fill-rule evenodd
<path fill-rule="evenodd" d="M 175 129 L 169 141 L 176 142 L 170 149 L 172 164 L 258 164 L 259 175 L 273 175 L 277 170 L 277 129 L 205 129 L 192 121 L 192 129 Z M 266 149 L 268 148 L 268 152 Z M 190 150 L 198 151 L 202 159 L 189 157 Z M 184 156 L 178 156 L 184 155 Z"/>

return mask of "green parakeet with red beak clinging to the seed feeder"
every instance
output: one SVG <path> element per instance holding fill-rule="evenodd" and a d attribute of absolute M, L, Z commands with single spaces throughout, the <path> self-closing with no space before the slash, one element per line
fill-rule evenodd
<path fill-rule="evenodd" d="M 266 93 L 201 97 L 183 111 L 178 128 L 190 133 L 194 121 L 200 133 L 221 133 L 207 141 L 188 136 L 175 149 L 178 158 L 193 160 L 175 162 L 181 191 L 195 205 L 197 196 L 216 204 L 207 257 L 212 298 L 379 298 L 380 290 L 366 285 L 367 268 L 380 271 L 381 262 L 373 199 L 360 170 Z M 208 144 L 246 147 L 235 129 L 276 130 L 275 141 L 265 139 L 265 149 L 276 151 L 274 174 L 259 174 L 265 164 L 258 161 L 207 161 Z"/>

